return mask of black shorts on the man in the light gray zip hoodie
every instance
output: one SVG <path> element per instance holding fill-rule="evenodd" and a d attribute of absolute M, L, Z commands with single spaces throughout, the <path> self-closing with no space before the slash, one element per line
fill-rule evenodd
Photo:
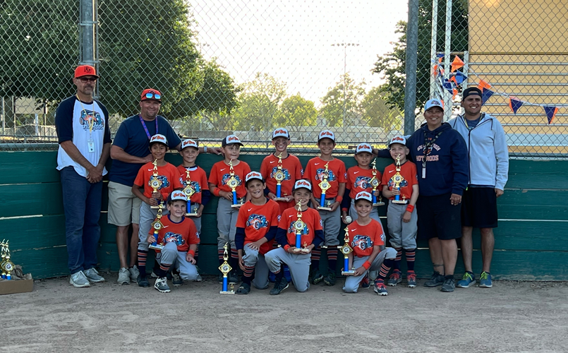
<path fill-rule="evenodd" d="M 491 187 L 469 187 L 461 198 L 461 225 L 474 228 L 497 227 L 497 196 Z"/>

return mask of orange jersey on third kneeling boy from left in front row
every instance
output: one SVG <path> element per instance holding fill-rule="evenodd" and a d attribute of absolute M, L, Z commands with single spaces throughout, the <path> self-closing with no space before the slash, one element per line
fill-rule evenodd
<path fill-rule="evenodd" d="M 280 224 L 278 227 L 286 230 L 286 238 L 288 239 L 289 246 L 296 246 L 296 230 L 294 229 L 294 222 L 298 220 L 297 214 L 298 210 L 296 210 L 296 208 L 287 208 L 284 210 L 284 213 L 282 213 L 282 216 L 280 216 Z M 302 232 L 301 245 L 303 246 L 304 243 L 310 245 L 313 243 L 315 231 L 323 231 L 320 213 L 313 208 L 308 208 L 307 210 L 302 211 L 302 221 L 306 223 L 306 227 L 304 227 Z"/>

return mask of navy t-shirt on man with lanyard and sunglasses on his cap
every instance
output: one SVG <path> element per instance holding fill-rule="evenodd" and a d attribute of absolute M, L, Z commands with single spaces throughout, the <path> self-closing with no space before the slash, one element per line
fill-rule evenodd
<path fill-rule="evenodd" d="M 181 143 L 181 139 L 177 136 L 174 129 L 171 128 L 164 116 L 158 115 L 156 119 L 158 119 L 157 133 L 166 136 L 169 148 L 175 149 Z M 156 134 L 156 122 L 144 121 L 144 123 L 146 124 L 150 136 L 154 136 Z M 149 143 L 150 139 L 146 135 L 144 126 L 140 122 L 140 116 L 136 114 L 122 122 L 119 131 L 116 131 L 112 145 L 122 148 L 128 155 L 142 158 L 150 154 Z M 112 160 L 109 181 L 132 186 L 134 179 L 136 179 L 136 174 L 138 174 L 138 170 L 140 170 L 142 166 L 143 163 L 126 163 L 120 160 Z"/>

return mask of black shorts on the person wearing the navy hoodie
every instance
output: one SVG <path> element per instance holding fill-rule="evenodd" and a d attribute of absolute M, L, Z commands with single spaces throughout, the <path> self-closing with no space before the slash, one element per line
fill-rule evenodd
<path fill-rule="evenodd" d="M 418 237 L 441 240 L 461 237 L 461 207 L 452 205 L 452 193 L 438 196 L 418 196 Z"/>

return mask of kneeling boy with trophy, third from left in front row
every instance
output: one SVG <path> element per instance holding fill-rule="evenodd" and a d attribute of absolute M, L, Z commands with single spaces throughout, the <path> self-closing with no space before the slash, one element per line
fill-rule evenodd
<path fill-rule="evenodd" d="M 296 248 L 296 229 L 294 223 L 298 220 L 298 209 L 288 208 L 280 217 L 276 232 L 276 241 L 282 247 L 269 251 L 265 255 L 268 269 L 276 274 L 274 288 L 270 289 L 270 295 L 280 294 L 288 288 L 288 281 L 284 277 L 284 271 L 280 270 L 283 263 L 290 268 L 290 274 L 294 287 L 298 292 L 306 292 L 310 287 L 308 276 L 310 274 L 310 253 L 315 246 L 320 246 L 323 241 L 322 220 L 320 214 L 313 208 L 308 208 L 308 202 L 312 197 L 312 186 L 306 179 L 297 180 L 292 191 L 294 201 L 300 203 L 301 220 L 305 224 L 301 230 L 301 249 Z"/>

